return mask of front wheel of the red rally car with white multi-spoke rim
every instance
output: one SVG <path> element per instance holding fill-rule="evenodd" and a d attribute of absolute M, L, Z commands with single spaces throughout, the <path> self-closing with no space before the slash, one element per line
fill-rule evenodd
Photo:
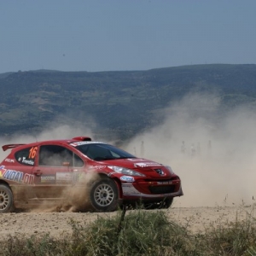
<path fill-rule="evenodd" d="M 96 212 L 113 212 L 118 208 L 118 188 L 109 178 L 96 180 L 90 187 L 90 204 Z"/>

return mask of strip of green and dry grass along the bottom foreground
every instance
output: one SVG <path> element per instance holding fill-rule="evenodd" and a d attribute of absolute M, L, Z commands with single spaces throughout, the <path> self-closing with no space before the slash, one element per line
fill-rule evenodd
<path fill-rule="evenodd" d="M 1 255 L 256 255 L 255 219 L 212 225 L 204 233 L 170 222 L 165 212 L 137 210 L 97 218 L 91 224 L 69 220 L 73 233 L 61 239 L 48 235 L 2 243 Z"/>

